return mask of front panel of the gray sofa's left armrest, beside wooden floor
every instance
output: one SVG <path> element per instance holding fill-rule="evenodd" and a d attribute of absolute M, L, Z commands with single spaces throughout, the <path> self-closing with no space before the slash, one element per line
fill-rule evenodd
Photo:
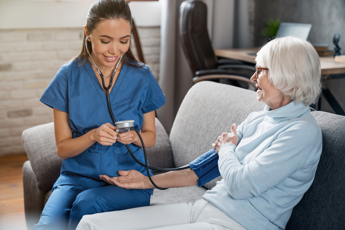
<path fill-rule="evenodd" d="M 45 193 L 36 186 L 36 178 L 30 161 L 26 161 L 23 165 L 23 190 L 27 229 L 33 229 L 42 213 Z"/>

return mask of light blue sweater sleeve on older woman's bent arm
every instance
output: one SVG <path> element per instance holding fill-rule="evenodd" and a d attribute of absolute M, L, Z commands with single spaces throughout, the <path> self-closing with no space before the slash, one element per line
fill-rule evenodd
<path fill-rule="evenodd" d="M 259 196 L 299 170 L 301 183 L 312 180 L 321 152 L 320 136 L 317 127 L 292 125 L 247 164 L 238 159 L 236 145 L 223 145 L 218 165 L 228 193 L 236 199 Z"/>

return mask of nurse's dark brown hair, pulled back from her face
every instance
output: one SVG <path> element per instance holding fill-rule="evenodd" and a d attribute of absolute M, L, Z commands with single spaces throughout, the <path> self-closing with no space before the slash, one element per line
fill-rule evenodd
<path fill-rule="evenodd" d="M 97 0 L 95 1 L 87 14 L 86 17 L 86 28 L 89 33 L 92 33 L 93 30 L 104 20 L 104 19 L 123 19 L 131 25 L 132 31 L 132 13 L 129 5 L 125 0 Z M 83 42 L 79 54 L 75 57 L 75 60 L 84 65 L 87 62 L 88 53 L 86 51 L 85 40 L 86 34 L 83 35 Z M 92 52 L 91 42 L 87 41 L 87 47 L 89 52 Z M 138 66 L 135 63 L 131 63 L 128 59 L 133 59 L 135 63 L 138 63 L 137 58 L 133 55 L 131 46 L 128 51 L 123 55 L 122 60 L 126 65 L 129 66 Z M 139 64 L 139 66 L 141 66 Z"/>

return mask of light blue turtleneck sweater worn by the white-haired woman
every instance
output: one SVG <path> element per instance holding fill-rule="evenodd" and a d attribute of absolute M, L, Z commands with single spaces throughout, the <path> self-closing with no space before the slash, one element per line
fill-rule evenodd
<path fill-rule="evenodd" d="M 223 179 L 203 197 L 248 230 L 284 229 L 314 179 L 321 128 L 308 106 L 292 101 L 249 114 L 237 134 L 237 147 L 219 150 Z"/>

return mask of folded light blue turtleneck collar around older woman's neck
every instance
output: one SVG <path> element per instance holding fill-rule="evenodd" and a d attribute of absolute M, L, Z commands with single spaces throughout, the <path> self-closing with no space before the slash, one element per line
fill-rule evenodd
<path fill-rule="evenodd" d="M 304 105 L 302 102 L 296 103 L 295 101 L 291 101 L 287 105 L 274 110 L 271 110 L 268 105 L 264 108 L 264 113 L 271 122 L 287 121 L 292 118 L 300 117 L 308 111 L 310 113 L 309 106 Z"/>

